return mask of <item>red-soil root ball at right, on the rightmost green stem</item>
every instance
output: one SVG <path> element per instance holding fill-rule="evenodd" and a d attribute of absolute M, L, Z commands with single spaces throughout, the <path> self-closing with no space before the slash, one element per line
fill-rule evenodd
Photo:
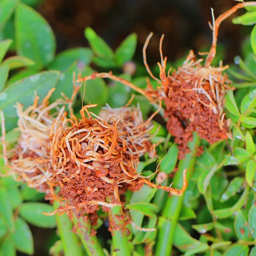
<path fill-rule="evenodd" d="M 228 66 L 203 67 L 201 61 L 190 51 L 182 66 L 167 76 L 163 98 L 168 118 L 166 127 L 179 145 L 179 158 L 189 151 L 187 145 L 192 132 L 209 143 L 229 136 L 223 106 L 230 81 L 222 74 Z"/>

